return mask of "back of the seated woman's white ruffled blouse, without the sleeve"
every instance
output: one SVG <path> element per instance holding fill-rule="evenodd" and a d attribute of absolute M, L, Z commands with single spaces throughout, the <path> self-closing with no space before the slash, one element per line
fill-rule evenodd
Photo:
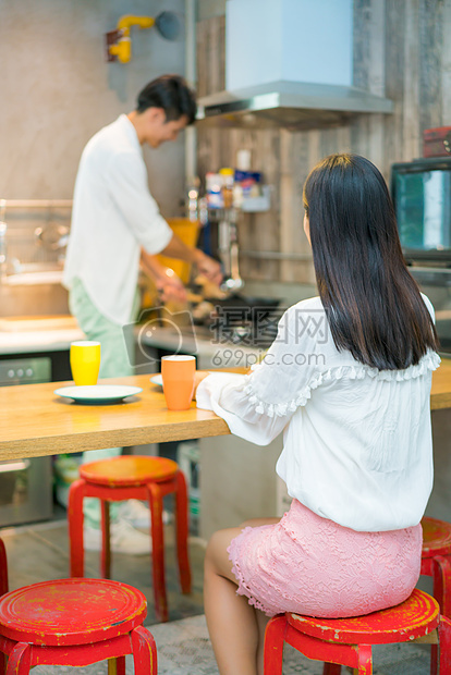
<path fill-rule="evenodd" d="M 432 488 L 430 383 L 439 357 L 377 371 L 331 340 L 316 349 L 324 360 L 297 392 L 305 404 L 285 428 L 277 464 L 289 494 L 355 530 L 416 525 Z"/>

